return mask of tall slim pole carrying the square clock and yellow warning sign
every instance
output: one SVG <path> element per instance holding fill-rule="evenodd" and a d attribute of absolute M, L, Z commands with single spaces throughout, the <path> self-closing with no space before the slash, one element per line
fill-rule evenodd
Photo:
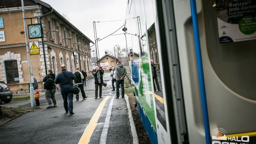
<path fill-rule="evenodd" d="M 26 18 L 25 18 L 25 9 L 24 9 L 24 1 L 21 0 L 21 5 L 22 5 L 22 14 L 23 14 L 23 23 L 24 23 L 24 31 L 25 31 L 25 39 L 26 39 L 26 48 L 27 48 L 27 63 L 28 63 L 28 68 L 29 68 L 29 83 L 30 83 L 30 101 L 31 101 L 31 107 L 36 108 L 35 106 L 35 98 L 34 98 L 34 77 L 33 77 L 33 70 L 30 65 L 30 59 L 29 59 L 29 47 L 28 47 L 28 42 L 27 42 L 27 24 L 26 24 Z"/>

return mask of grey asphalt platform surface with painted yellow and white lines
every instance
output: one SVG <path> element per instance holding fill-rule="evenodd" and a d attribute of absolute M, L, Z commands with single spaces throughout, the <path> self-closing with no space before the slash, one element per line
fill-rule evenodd
<path fill-rule="evenodd" d="M 102 99 L 94 99 L 94 79 L 86 81 L 88 98 L 81 100 L 80 93 L 80 100 L 75 101 L 74 96 L 74 115 L 65 113 L 60 94 L 56 95 L 56 108 L 46 109 L 46 100 L 41 97 L 41 109 L 0 126 L 0 144 L 87 144 L 81 143 L 86 139 L 89 144 L 132 144 L 126 101 L 113 98 L 116 92 L 111 91 L 110 78 L 106 73 L 108 85 L 102 88 Z"/>

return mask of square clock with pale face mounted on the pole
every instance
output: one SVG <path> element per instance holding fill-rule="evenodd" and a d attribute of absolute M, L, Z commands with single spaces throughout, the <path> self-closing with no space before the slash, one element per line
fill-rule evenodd
<path fill-rule="evenodd" d="M 29 37 L 29 39 L 32 39 L 32 38 L 42 38 L 42 27 L 41 27 L 41 24 L 27 25 L 27 29 L 28 29 L 28 37 Z"/>

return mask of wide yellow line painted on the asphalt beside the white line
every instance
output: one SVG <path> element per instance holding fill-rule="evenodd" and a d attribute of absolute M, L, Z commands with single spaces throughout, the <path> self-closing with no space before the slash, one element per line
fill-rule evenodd
<path fill-rule="evenodd" d="M 85 128 L 78 144 L 88 144 L 90 142 L 91 135 L 92 135 L 95 127 L 97 126 L 98 120 L 101 116 L 101 111 L 109 98 L 110 98 L 110 96 L 107 96 L 105 99 L 103 99 L 101 101 L 99 107 L 96 109 L 94 115 L 91 117 L 91 120 L 90 120 L 88 126 Z"/>

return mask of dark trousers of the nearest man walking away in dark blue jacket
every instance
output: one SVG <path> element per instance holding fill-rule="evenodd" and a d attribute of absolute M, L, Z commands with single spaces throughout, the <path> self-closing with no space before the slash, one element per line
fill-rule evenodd
<path fill-rule="evenodd" d="M 64 109 L 65 111 L 69 111 L 69 113 L 73 112 L 73 91 L 70 92 L 65 92 L 62 93 L 62 98 L 63 98 L 63 105 L 64 105 Z"/>

